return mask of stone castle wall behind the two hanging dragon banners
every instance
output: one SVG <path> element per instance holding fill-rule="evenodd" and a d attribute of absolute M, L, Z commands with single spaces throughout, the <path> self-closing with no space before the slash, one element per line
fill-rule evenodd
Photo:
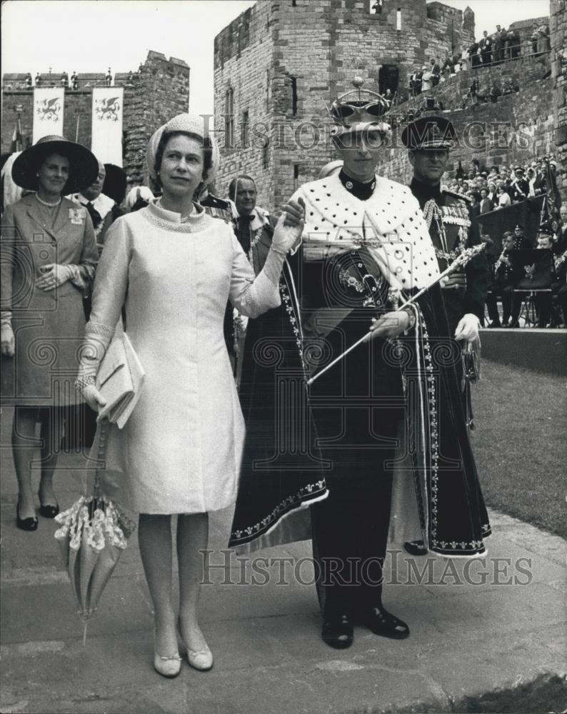
<path fill-rule="evenodd" d="M 34 91 L 25 87 L 25 74 L 5 74 L 2 81 L 1 151 L 9 151 L 19 111 L 22 136 L 31 141 Z M 41 86 L 49 81 L 43 74 Z M 52 75 L 59 80 L 59 75 Z M 100 80 L 100 81 L 99 81 Z M 104 75 L 79 75 L 78 89 L 65 89 L 64 136 L 91 146 L 92 87 L 104 86 Z M 88 86 L 87 86 L 88 85 Z M 123 158 L 124 170 L 132 184 L 148 181 L 145 159 L 151 134 L 172 116 L 188 111 L 189 66 L 181 59 L 166 59 L 161 52 L 149 51 L 139 72 L 114 76 L 114 86 L 124 87 Z"/>

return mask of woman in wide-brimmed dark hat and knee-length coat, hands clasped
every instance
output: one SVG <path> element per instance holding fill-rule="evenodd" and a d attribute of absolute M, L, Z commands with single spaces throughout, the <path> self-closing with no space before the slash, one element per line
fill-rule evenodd
<path fill-rule="evenodd" d="M 59 505 L 53 476 L 63 423 L 82 403 L 74 389 L 76 351 L 98 253 L 89 214 L 64 194 L 88 186 L 97 173 L 93 154 L 62 136 L 45 136 L 12 166 L 14 182 L 34 191 L 6 207 L 1 241 L 1 353 L 11 373 L 10 393 L 3 396 L 16 406 L 16 525 L 24 531 L 38 527 L 30 466 L 39 456 L 36 423 L 41 425 L 39 513 L 54 518 Z M 73 431 L 70 423 L 66 431 Z"/>

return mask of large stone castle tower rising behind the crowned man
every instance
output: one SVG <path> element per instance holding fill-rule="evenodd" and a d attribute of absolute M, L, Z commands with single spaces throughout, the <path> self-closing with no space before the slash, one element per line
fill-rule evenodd
<path fill-rule="evenodd" d="M 416 66 L 473 42 L 474 15 L 426 0 L 267 0 L 215 38 L 216 191 L 256 178 L 259 205 L 279 208 L 330 161 L 325 106 L 351 89 L 403 96 Z"/>

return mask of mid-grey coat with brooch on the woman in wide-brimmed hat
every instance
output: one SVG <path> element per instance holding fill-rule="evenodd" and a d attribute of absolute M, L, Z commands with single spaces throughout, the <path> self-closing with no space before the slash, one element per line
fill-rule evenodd
<path fill-rule="evenodd" d="M 99 259 L 89 214 L 61 198 L 48 225 L 35 195 L 24 196 L 4 211 L 1 251 L 1 309 L 12 312 L 16 337 L 14 391 L 9 396 L 27 406 L 80 403 L 74 381 L 86 322 L 84 293 Z M 35 283 L 49 263 L 74 266 L 73 276 L 43 291 Z"/>

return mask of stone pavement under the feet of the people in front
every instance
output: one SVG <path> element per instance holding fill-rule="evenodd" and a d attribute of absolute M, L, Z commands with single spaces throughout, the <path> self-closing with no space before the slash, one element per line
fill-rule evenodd
<path fill-rule="evenodd" d="M 211 563 L 226 567 L 209 570 L 214 584 L 204 588 L 201 600 L 201 623 L 215 655 L 211 672 L 196 672 L 186 662 L 175 680 L 154 672 L 151 606 L 136 535 L 102 595 L 83 647 L 82 626 L 53 538 L 56 524 L 40 518 L 35 533 L 15 526 L 10 419 L 10 410 L 4 410 L 2 713 L 518 713 L 565 708 L 565 541 L 494 512 L 488 556 L 469 565 L 413 559 L 391 550 L 384 601 L 409 623 L 408 640 L 378 638 L 356 628 L 350 649 L 328 648 L 319 636 L 310 564 L 301 560 L 310 557 L 309 544 L 257 554 L 273 558 L 271 563 L 239 561 L 234 554 L 229 558 L 221 553 L 231 516 L 225 511 L 211 519 L 210 547 L 215 551 Z M 79 463 L 77 457 L 61 458 L 56 492 L 62 508 L 79 495 Z M 563 681 L 550 679 L 553 674 Z M 543 682 L 540 709 L 526 698 L 536 680 Z M 551 682 L 554 688 L 546 686 Z M 504 692 L 498 695 L 499 690 Z M 483 704 L 485 693 L 491 693 L 493 703 Z"/>

